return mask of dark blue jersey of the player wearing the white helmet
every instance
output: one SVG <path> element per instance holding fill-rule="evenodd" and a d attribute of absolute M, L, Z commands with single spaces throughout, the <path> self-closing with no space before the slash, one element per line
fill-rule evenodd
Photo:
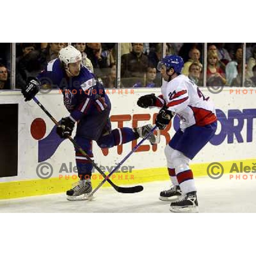
<path fill-rule="evenodd" d="M 56 58 L 47 64 L 37 78 L 42 85 L 51 84 L 61 89 L 64 105 L 75 121 L 84 115 L 101 113 L 107 109 L 110 111 L 111 103 L 103 85 L 85 66 L 81 66 L 78 76 L 68 77 L 61 67 L 61 61 Z"/>

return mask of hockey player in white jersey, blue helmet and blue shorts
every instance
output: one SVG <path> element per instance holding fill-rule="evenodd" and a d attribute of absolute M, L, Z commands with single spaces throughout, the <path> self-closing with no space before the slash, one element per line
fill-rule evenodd
<path fill-rule="evenodd" d="M 165 155 L 170 189 L 160 192 L 160 200 L 171 201 L 170 211 L 198 212 L 195 181 L 189 160 L 209 142 L 217 129 L 215 108 L 209 97 L 204 97 L 197 85 L 187 76 L 181 75 L 183 59 L 168 55 L 158 64 L 164 79 L 162 94 L 149 94 L 138 99 L 142 108 L 161 108 L 156 125 L 165 129 L 172 117 L 180 118 L 180 129 L 166 145 Z"/>

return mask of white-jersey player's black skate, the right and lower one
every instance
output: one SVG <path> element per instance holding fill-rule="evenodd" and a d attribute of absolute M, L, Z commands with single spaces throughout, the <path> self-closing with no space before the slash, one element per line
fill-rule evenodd
<path fill-rule="evenodd" d="M 196 192 L 189 192 L 170 205 L 171 212 L 199 212 Z"/>

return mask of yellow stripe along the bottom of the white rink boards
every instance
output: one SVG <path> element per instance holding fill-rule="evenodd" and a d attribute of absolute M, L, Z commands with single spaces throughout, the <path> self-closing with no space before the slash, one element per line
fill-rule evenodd
<path fill-rule="evenodd" d="M 220 163 L 224 168 L 224 173 L 229 173 L 232 165 L 236 163 L 239 167 L 240 162 L 243 163 L 243 166 L 252 166 L 252 163 L 256 163 L 256 159 L 232 160 Z M 194 177 L 207 175 L 208 166 L 209 163 L 191 164 Z M 218 172 L 218 169 L 216 169 L 215 172 Z M 100 181 L 102 181 L 102 179 L 103 178 L 101 175 L 93 174 L 93 187 L 95 187 Z M 133 170 L 131 173 L 115 173 L 111 177 L 111 180 L 113 180 L 113 182 L 119 186 L 131 186 L 131 184 L 141 184 L 145 182 L 161 181 L 168 179 L 169 175 L 166 167 Z M 74 174 L 73 176 L 70 175 L 65 177 L 65 175 L 63 175 L 63 177 L 52 177 L 46 180 L 34 179 L 0 182 L 0 199 L 21 198 L 27 196 L 66 192 L 66 190 L 70 189 L 72 187 L 72 184 L 76 183 L 77 181 L 77 176 Z M 106 182 L 103 187 L 109 186 L 111 185 Z"/>

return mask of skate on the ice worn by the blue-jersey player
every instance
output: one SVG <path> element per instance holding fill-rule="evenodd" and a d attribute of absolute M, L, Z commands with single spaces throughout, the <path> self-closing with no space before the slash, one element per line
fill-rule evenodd
<path fill-rule="evenodd" d="M 90 192 L 93 191 L 92 183 L 90 180 L 79 180 L 72 189 L 67 191 L 67 200 L 87 200 Z"/>

